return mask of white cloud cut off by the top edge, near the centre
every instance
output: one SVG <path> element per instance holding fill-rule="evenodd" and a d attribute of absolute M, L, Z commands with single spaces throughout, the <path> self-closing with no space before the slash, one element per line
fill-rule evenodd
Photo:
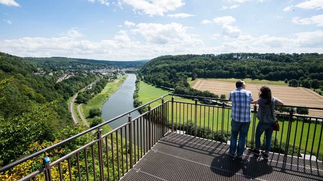
<path fill-rule="evenodd" d="M 164 16 L 164 13 L 174 11 L 185 5 L 182 0 L 124 0 L 124 3 L 132 6 L 134 10 L 142 11 L 151 17 L 155 15 Z"/>

